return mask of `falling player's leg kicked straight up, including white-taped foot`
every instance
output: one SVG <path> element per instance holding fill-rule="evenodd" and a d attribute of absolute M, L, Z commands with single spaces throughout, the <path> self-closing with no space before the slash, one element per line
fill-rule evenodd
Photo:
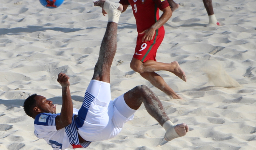
<path fill-rule="evenodd" d="M 117 45 L 117 25 L 123 6 L 109 0 L 98 0 L 94 2 L 94 5 L 104 8 L 108 13 L 109 20 L 101 43 L 99 59 L 94 68 L 93 79 L 110 83 L 110 67 Z"/>

